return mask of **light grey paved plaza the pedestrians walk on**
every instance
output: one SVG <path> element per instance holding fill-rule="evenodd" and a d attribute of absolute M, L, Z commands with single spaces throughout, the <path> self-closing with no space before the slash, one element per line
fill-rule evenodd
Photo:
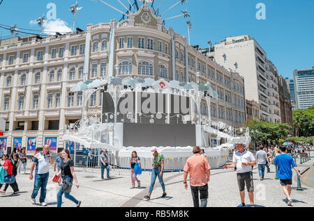
<path fill-rule="evenodd" d="M 297 162 L 299 165 L 299 162 Z M 311 161 L 299 166 L 299 170 L 304 171 L 313 166 L 314 158 Z M 28 172 L 31 163 L 28 162 Z M 294 207 L 314 206 L 314 188 L 311 178 L 313 169 L 304 173 L 302 180 L 303 191 L 297 191 L 297 178 L 294 172 L 292 183 L 292 199 Z M 184 189 L 183 172 L 170 172 L 164 174 L 165 188 L 167 197 L 161 198 L 162 190 L 156 180 L 155 189 L 151 195 L 151 200 L 144 199 L 147 195 L 150 185 L 151 174 L 143 172 L 139 177 L 141 187 L 130 189 L 131 179 L 129 170 L 112 171 L 112 179 L 100 179 L 100 170 L 88 169 L 87 171 L 76 167 L 77 179 L 80 188 L 73 185 L 72 195 L 82 201 L 83 206 L 89 207 L 190 207 L 193 206 L 193 200 L 188 190 Z M 52 166 L 50 166 L 50 180 L 47 186 L 46 202 L 48 206 L 57 206 L 57 191 L 59 186 L 52 183 L 54 175 Z M 271 165 L 271 172 L 265 174 L 264 181 L 260 181 L 257 166 L 253 170 L 255 187 L 255 204 L 266 207 L 285 207 L 285 197 L 281 190 L 279 180 L 275 179 L 275 167 Z M 18 174 L 17 183 L 20 188 L 19 195 L 11 195 L 12 189 L 9 187 L 6 194 L 0 195 L 0 207 L 8 206 L 40 206 L 32 205 L 30 195 L 33 190 L 33 181 L 29 180 L 29 174 Z M 74 184 L 74 183 L 73 183 Z M 5 199 L 5 200 L 3 200 Z M 39 200 L 39 194 L 36 198 Z M 211 170 L 211 179 L 209 181 L 209 207 L 234 207 L 239 205 L 239 189 L 237 186 L 236 172 L 233 169 Z M 248 204 L 248 195 L 246 194 L 246 203 Z M 73 202 L 63 197 L 62 206 L 75 207 Z"/>

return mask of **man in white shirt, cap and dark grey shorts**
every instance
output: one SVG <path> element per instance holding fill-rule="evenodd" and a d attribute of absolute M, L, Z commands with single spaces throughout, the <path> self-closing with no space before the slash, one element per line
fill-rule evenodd
<path fill-rule="evenodd" d="M 235 143 L 237 147 L 237 152 L 233 154 L 232 164 L 225 165 L 223 168 L 234 168 L 237 166 L 237 180 L 240 190 L 241 204 L 238 207 L 244 207 L 245 191 L 244 186 L 248 190 L 248 197 L 250 198 L 251 206 L 254 206 L 254 186 L 253 186 L 253 172 L 252 166 L 256 165 L 256 160 L 254 155 L 248 150 L 244 149 L 246 147 L 244 142 Z"/>

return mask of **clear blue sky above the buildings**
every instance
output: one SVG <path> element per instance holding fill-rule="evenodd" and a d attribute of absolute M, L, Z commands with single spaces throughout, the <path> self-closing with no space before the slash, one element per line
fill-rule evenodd
<path fill-rule="evenodd" d="M 117 0 L 105 0 L 112 6 L 125 11 Z M 133 0 L 130 0 L 133 1 Z M 87 24 L 110 22 L 110 19 L 120 19 L 121 14 L 105 4 L 79 0 L 83 9 L 77 15 L 77 27 L 86 28 Z M 128 0 L 121 0 L 127 4 Z M 156 0 L 159 6 L 163 0 Z M 165 0 L 160 7 L 164 11 L 176 3 L 177 0 Z M 75 0 L 3 0 L 0 5 L 0 24 L 36 29 L 30 24 L 43 13 L 47 15 L 48 3 L 57 6 L 57 19 L 73 25 L 73 15 L 68 10 Z M 266 6 L 266 19 L 257 20 L 255 14 L 257 3 Z M 17 7 L 18 6 L 18 7 Z M 220 42 L 227 36 L 249 34 L 267 52 L 269 60 L 278 68 L 278 72 L 285 77 L 292 77 L 294 69 L 305 69 L 314 66 L 314 0 L 188 0 L 181 6 L 172 8 L 163 18 L 179 15 L 179 10 L 188 9 L 191 30 L 191 44 L 207 47 L 207 41 Z M 179 17 L 166 22 L 166 26 L 174 28 L 181 35 L 187 34 L 186 19 Z M 3 37 L 10 35 L 9 31 L 2 31 Z"/>

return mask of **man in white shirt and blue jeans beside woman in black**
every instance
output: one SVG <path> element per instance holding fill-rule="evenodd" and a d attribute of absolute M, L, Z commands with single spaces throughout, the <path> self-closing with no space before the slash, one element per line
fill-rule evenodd
<path fill-rule="evenodd" d="M 33 183 L 33 193 L 31 194 L 31 202 L 36 204 L 36 196 L 40 190 L 39 202 L 41 206 L 47 206 L 45 203 L 47 183 L 49 179 L 49 164 L 53 164 L 54 161 L 50 156 L 49 145 L 43 146 L 43 152 L 39 152 L 33 157 L 33 163 L 31 164 L 31 172 L 29 179 L 33 180 L 33 169 L 35 169 L 35 181 Z"/>

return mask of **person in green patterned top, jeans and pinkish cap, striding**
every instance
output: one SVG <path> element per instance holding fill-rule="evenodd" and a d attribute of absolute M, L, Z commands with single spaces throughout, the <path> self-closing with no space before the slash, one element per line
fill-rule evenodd
<path fill-rule="evenodd" d="M 151 193 L 154 190 L 154 185 L 157 177 L 161 185 L 161 188 L 163 189 L 163 195 L 161 197 L 164 198 L 167 196 L 167 193 L 165 193 L 165 183 L 163 183 L 163 170 L 165 166 L 165 158 L 163 157 L 162 154 L 159 154 L 157 152 L 156 147 L 151 148 L 151 153 L 154 156 L 154 160 L 152 163 L 153 170 L 151 171 L 151 186 L 149 187 L 149 194 L 144 196 L 144 198 L 147 200 L 151 199 Z"/>

